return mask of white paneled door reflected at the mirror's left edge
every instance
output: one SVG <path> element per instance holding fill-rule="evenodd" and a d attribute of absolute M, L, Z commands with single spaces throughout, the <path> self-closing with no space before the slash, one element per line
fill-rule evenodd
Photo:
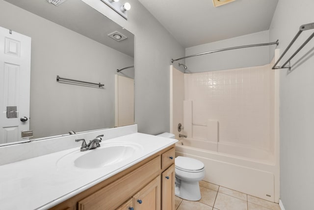
<path fill-rule="evenodd" d="M 30 37 L 0 27 L 0 144 L 28 140 L 21 131 L 29 120 L 20 118 L 29 119 L 30 52 Z M 15 115 L 7 115 L 15 112 L 8 107 L 16 107 Z"/>

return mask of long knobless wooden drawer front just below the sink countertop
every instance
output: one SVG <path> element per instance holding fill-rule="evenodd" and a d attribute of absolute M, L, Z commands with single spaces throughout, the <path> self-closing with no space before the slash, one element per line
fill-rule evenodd
<path fill-rule="evenodd" d="M 160 173 L 160 155 L 78 202 L 78 210 L 114 210 Z"/>

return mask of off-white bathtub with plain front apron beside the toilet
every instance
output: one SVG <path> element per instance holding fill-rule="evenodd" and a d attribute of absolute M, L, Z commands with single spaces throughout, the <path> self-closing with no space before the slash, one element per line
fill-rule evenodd
<path fill-rule="evenodd" d="M 176 156 L 192 157 L 205 164 L 204 180 L 279 202 L 279 172 L 269 151 L 228 143 L 183 139 L 176 144 Z"/>

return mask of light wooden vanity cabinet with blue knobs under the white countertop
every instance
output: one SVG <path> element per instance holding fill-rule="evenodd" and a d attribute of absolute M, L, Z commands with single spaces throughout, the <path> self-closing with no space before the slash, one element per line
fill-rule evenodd
<path fill-rule="evenodd" d="M 174 158 L 173 145 L 51 210 L 174 210 Z"/>

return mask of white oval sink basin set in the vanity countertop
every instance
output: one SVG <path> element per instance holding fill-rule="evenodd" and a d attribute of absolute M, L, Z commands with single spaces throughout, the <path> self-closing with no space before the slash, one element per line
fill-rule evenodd
<path fill-rule="evenodd" d="M 57 161 L 59 168 L 75 166 L 83 169 L 102 168 L 130 160 L 142 150 L 142 146 L 129 142 L 105 143 L 100 148 L 74 151 Z"/>

